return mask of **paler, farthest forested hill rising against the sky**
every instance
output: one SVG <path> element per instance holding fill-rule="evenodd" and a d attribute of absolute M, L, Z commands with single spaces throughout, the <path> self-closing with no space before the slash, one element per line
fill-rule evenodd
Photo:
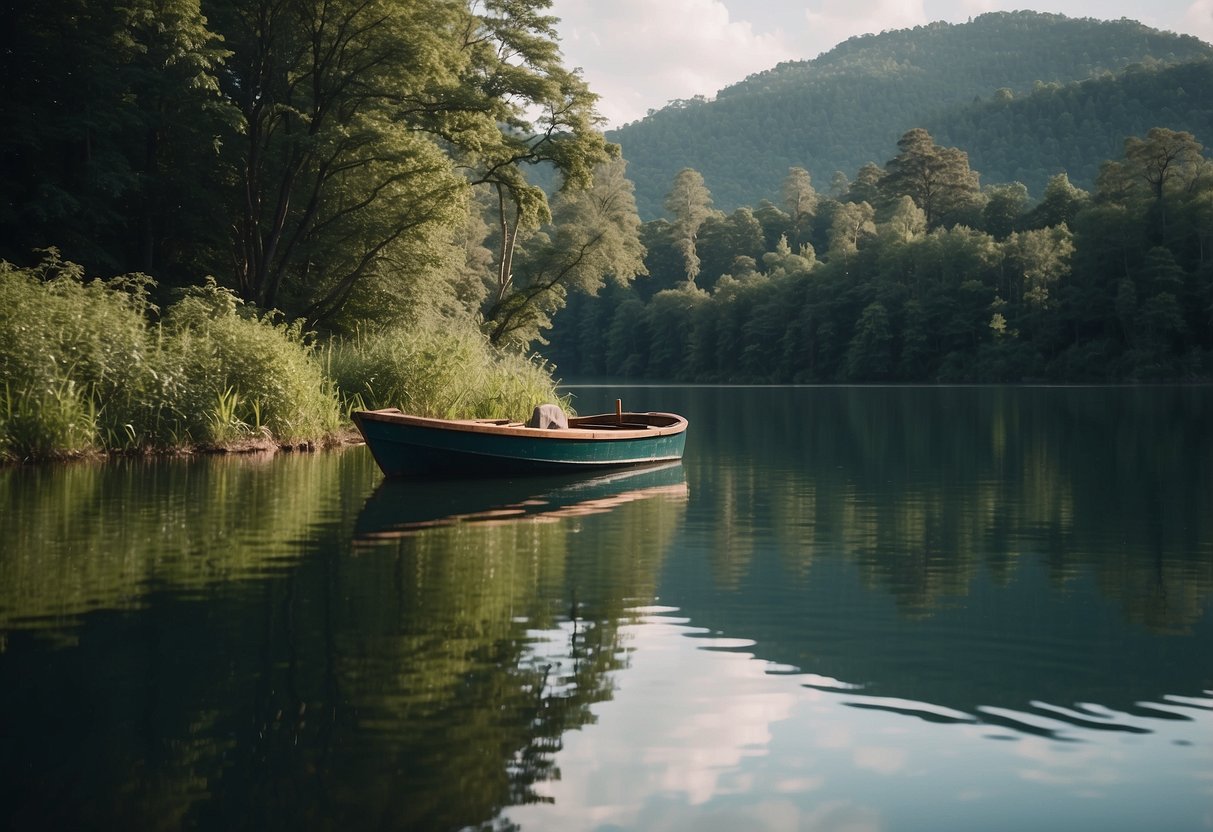
<path fill-rule="evenodd" d="M 906 130 L 933 126 L 950 136 L 950 119 L 972 121 L 967 108 L 996 95 L 1024 97 L 1116 78 L 1133 65 L 1157 70 L 1205 59 L 1213 59 L 1213 46 L 1200 39 L 1127 18 L 989 12 L 968 23 L 852 38 L 816 58 L 754 73 L 713 99 L 672 102 L 608 138 L 628 160 L 642 217 L 662 216 L 665 193 L 684 167 L 700 171 L 716 206 L 728 211 L 776 199 L 788 167 L 809 170 L 825 189 L 836 171 L 849 177 L 869 161 L 883 164 Z M 986 182 L 1014 178 L 974 167 Z M 1031 167 L 1061 165 L 1042 159 Z M 1031 186 L 1038 196 L 1041 183 Z"/>

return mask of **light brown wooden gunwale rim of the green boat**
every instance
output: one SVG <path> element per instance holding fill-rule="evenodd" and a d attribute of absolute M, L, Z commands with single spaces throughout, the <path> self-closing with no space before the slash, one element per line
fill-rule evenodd
<path fill-rule="evenodd" d="M 427 428 L 431 431 L 480 433 L 494 437 L 519 437 L 528 439 L 553 439 L 564 441 L 611 441 L 628 439 L 651 439 L 656 437 L 672 437 L 687 431 L 687 418 L 677 414 L 667 412 L 625 412 L 622 424 L 616 420 L 617 414 L 597 414 L 593 416 L 574 416 L 569 420 L 566 428 L 531 428 L 522 422 L 507 420 L 488 418 L 432 418 L 428 416 L 414 416 L 395 408 L 381 410 L 359 410 L 353 414 L 355 423 L 365 418 L 372 422 L 387 424 L 402 424 L 415 428 Z M 668 420 L 668 424 L 643 424 L 628 426 L 630 418 L 634 424 L 636 418 Z"/>

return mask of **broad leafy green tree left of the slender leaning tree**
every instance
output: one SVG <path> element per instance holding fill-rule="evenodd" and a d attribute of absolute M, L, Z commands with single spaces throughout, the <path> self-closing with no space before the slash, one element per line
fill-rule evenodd
<path fill-rule="evenodd" d="M 229 144 L 239 295 L 319 323 L 389 270 L 415 275 L 402 247 L 431 245 L 462 207 L 462 181 L 409 116 L 466 64 L 452 47 L 467 25 L 463 8 L 433 0 L 213 6 L 233 51 L 223 91 L 240 112 Z"/>

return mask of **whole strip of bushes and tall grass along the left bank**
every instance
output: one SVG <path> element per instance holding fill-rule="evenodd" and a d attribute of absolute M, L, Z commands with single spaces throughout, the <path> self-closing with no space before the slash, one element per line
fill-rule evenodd
<path fill-rule="evenodd" d="M 556 400 L 545 367 L 471 326 L 318 346 L 213 284 L 164 310 L 149 289 L 55 252 L 0 262 L 0 460 L 317 445 L 355 408 L 517 417 Z"/>

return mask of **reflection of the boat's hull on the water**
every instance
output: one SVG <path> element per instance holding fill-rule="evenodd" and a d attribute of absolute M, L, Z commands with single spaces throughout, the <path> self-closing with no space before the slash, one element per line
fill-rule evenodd
<path fill-rule="evenodd" d="M 651 498 L 685 501 L 680 462 L 630 468 L 597 477 L 560 474 L 469 480 L 385 479 L 354 526 L 354 546 L 461 523 L 557 523 L 603 514 Z"/>

